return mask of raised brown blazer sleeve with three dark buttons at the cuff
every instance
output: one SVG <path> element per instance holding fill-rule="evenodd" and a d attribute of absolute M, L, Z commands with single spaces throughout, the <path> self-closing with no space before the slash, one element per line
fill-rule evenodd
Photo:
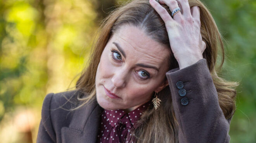
<path fill-rule="evenodd" d="M 172 69 L 166 76 L 179 123 L 179 142 L 229 143 L 231 119 L 225 119 L 220 108 L 206 59 Z"/>

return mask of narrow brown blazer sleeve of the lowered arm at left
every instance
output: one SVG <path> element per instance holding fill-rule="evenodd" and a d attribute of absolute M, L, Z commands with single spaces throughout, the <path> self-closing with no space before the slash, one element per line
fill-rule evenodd
<path fill-rule="evenodd" d="M 51 116 L 50 116 L 50 105 L 54 93 L 49 93 L 43 101 L 42 107 L 42 118 L 39 125 L 38 135 L 36 143 L 55 143 L 56 135 L 54 128 L 52 126 Z"/>

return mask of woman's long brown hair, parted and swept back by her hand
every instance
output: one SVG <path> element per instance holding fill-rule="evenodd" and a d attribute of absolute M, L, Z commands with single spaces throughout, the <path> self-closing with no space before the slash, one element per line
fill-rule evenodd
<path fill-rule="evenodd" d="M 218 50 L 221 51 L 221 63 L 218 70 L 220 70 L 225 56 L 221 35 L 209 10 L 202 2 L 199 0 L 189 0 L 189 5 L 190 7 L 199 6 L 200 8 L 201 35 L 202 40 L 206 43 L 203 57 L 207 61 L 209 71 L 217 89 L 219 104 L 223 114 L 226 119 L 230 119 L 235 112 L 236 91 L 234 88 L 238 84 L 237 82 L 225 81 L 216 74 L 215 66 Z M 163 6 L 170 13 L 169 8 L 166 5 Z M 95 100 L 95 75 L 102 51 L 111 35 L 124 24 L 131 24 L 143 29 L 153 40 L 166 45 L 171 50 L 165 24 L 154 8 L 151 7 L 149 0 L 133 0 L 124 3 L 102 21 L 97 40 L 95 40 L 93 45 L 89 65 L 81 72 L 81 76 L 76 82 L 76 89 L 87 93 L 88 96 L 78 98 L 83 104 L 75 109 Z M 169 69 L 178 67 L 178 62 L 173 54 L 170 57 L 169 67 Z M 138 142 L 178 143 L 179 127 L 175 118 L 170 94 L 170 89 L 167 86 L 159 92 L 159 98 L 162 100 L 162 103 L 157 111 L 151 106 L 144 112 L 138 121 L 139 127 L 133 131 L 133 137 Z"/>

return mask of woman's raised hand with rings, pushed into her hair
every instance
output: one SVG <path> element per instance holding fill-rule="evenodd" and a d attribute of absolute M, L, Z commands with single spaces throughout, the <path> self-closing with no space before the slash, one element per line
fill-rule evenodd
<path fill-rule="evenodd" d="M 202 59 L 206 44 L 202 41 L 200 32 L 199 7 L 194 6 L 190 9 L 188 0 L 159 0 L 159 3 L 166 4 L 171 11 L 180 6 L 181 12 L 176 13 L 172 18 L 156 0 L 149 0 L 149 2 L 166 25 L 171 50 L 180 69 Z"/>

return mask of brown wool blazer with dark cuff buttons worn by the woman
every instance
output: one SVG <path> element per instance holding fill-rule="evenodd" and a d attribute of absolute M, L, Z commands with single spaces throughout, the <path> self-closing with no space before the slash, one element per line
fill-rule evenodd
<path fill-rule="evenodd" d="M 229 143 L 231 118 L 225 119 L 219 106 L 206 59 L 181 70 L 168 71 L 166 76 L 180 125 L 179 143 Z M 185 89 L 186 93 L 179 92 L 180 89 Z M 96 142 L 102 113 L 97 101 L 72 112 L 65 110 L 75 106 L 67 99 L 73 101 L 82 95 L 80 91 L 47 94 L 43 101 L 37 143 Z"/>

